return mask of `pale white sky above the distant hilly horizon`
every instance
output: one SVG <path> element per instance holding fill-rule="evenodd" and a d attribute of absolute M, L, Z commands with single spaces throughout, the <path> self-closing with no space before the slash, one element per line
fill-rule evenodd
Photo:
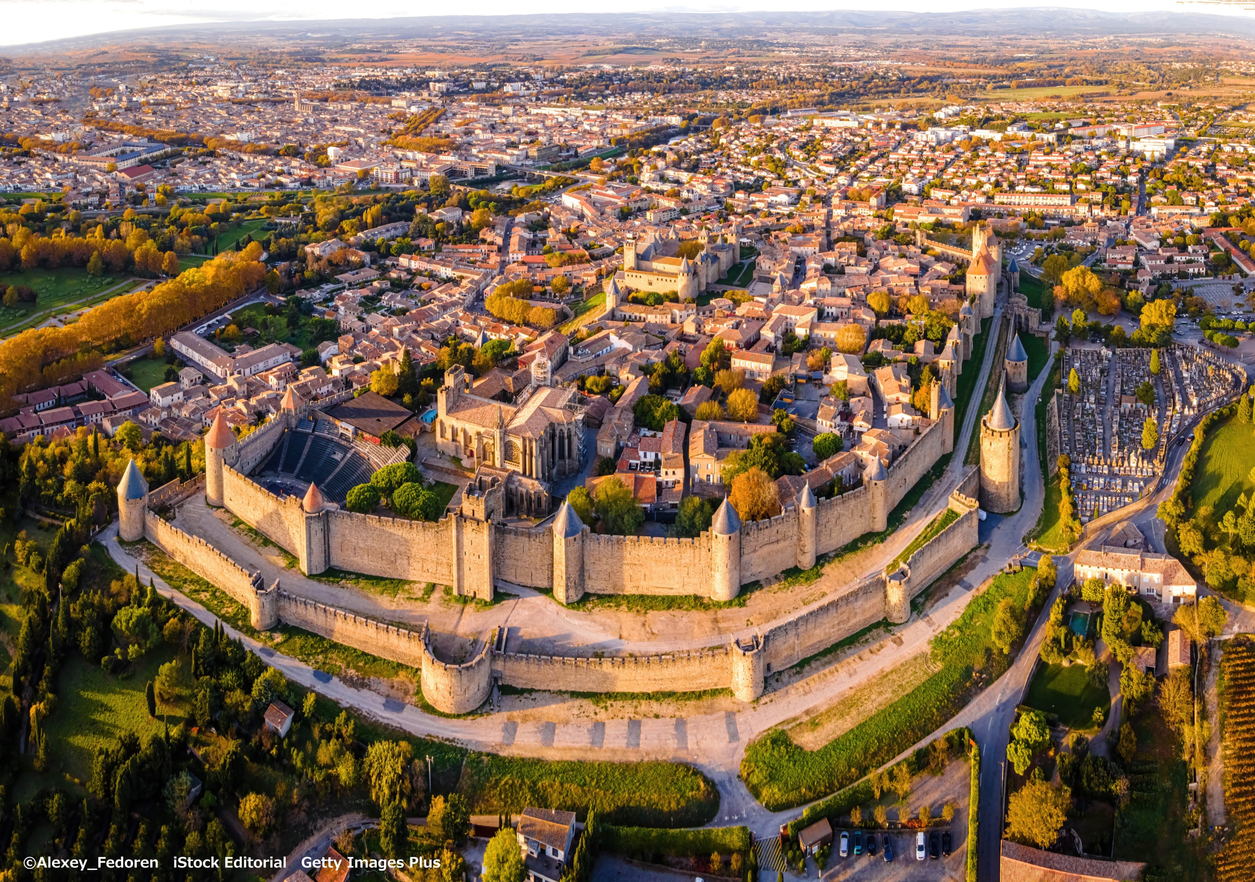
<path fill-rule="evenodd" d="M 1067 6 L 1093 9 L 1093 0 L 880 0 L 877 9 L 916 13 L 945 13 L 969 9 L 1009 9 L 1017 6 Z M 1255 15 L 1245 4 L 1190 3 L 1191 10 L 1222 15 Z M 266 0 L 259 10 L 256 0 L 217 0 L 211 4 L 178 4 L 173 0 L 4 0 L 5 28 L 0 29 L 0 45 L 41 43 L 68 36 L 85 36 L 114 30 L 159 28 L 163 25 L 213 21 L 252 20 L 316 20 L 363 16 L 389 19 L 415 15 L 446 15 L 456 10 L 437 4 L 414 4 L 413 0 L 375 0 L 369 9 L 345 6 L 341 0 Z M 1107 13 L 1183 11 L 1177 0 L 1106 0 Z M 638 13 L 737 13 L 769 9 L 773 11 L 827 11 L 850 9 L 851 4 L 833 0 L 638 0 L 631 11 Z M 605 8 L 602 8 L 605 9 Z M 561 14 L 587 13 L 587 0 L 481 0 L 477 14 Z M 866 11 L 863 8 L 862 11 Z M 1188 14 L 1183 11 L 1183 14 Z"/>

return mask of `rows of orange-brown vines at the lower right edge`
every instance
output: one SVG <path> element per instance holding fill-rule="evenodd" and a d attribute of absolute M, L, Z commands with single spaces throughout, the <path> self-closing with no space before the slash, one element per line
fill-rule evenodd
<path fill-rule="evenodd" d="M 1225 812 L 1234 831 L 1216 857 L 1219 882 L 1245 882 L 1255 866 L 1255 641 L 1225 642 L 1220 660 L 1220 731 L 1225 760 Z"/>

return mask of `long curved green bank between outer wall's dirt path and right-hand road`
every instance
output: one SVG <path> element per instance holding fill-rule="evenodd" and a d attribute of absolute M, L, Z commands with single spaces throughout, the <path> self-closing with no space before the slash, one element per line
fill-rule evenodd
<path fill-rule="evenodd" d="M 935 674 L 821 749 L 803 750 L 783 729 L 750 743 L 740 764 L 745 787 L 772 812 L 801 805 L 850 787 L 936 730 L 1014 661 L 994 646 L 994 612 L 1004 597 L 1027 605 L 1035 575 L 1025 568 L 998 576 L 932 639 Z"/>

